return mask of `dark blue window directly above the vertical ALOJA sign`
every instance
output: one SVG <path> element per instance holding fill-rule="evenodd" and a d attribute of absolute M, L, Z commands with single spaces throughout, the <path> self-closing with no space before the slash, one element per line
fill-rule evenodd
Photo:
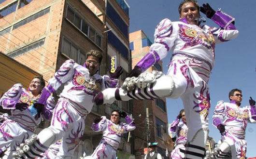
<path fill-rule="evenodd" d="M 108 31 L 108 42 L 125 58 L 128 60 L 127 47 L 114 35 L 112 31 Z"/>

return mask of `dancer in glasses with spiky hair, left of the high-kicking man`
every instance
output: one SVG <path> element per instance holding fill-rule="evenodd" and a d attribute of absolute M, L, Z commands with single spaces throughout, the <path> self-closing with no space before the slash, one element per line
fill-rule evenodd
<path fill-rule="evenodd" d="M 39 102 L 44 103 L 45 98 L 62 84 L 65 84 L 64 89 L 54 110 L 51 126 L 38 134 L 38 140 L 30 146 L 23 158 L 42 157 L 39 154 L 62 139 L 56 159 L 71 159 L 75 147 L 82 139 L 85 118 L 94 104 L 94 94 L 116 86 L 117 79 L 123 72 L 122 67 L 117 67 L 110 77 L 100 76 L 96 72 L 102 60 L 102 53 L 91 50 L 85 56 L 84 66 L 78 65 L 73 60 L 67 60 L 55 73 L 54 78 L 49 80 Z"/>

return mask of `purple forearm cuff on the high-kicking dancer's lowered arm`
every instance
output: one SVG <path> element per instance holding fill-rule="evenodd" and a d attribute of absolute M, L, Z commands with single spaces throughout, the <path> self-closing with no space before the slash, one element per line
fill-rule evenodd
<path fill-rule="evenodd" d="M 147 53 L 140 62 L 136 66 L 141 67 L 142 72 L 144 72 L 146 69 L 148 69 L 150 66 L 155 65 L 160 61 L 160 57 L 158 53 L 156 53 L 154 50 L 151 50 L 149 53 Z"/>

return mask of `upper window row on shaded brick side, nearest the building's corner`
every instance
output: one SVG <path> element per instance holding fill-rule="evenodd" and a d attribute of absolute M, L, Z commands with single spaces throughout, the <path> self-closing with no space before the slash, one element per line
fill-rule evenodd
<path fill-rule="evenodd" d="M 90 40 L 101 48 L 101 36 L 93 27 L 89 26 L 70 6 L 67 8 L 66 18 L 82 31 Z"/>

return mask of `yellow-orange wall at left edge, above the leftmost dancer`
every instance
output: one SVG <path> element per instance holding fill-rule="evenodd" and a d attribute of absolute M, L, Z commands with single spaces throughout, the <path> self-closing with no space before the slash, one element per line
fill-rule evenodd
<path fill-rule="evenodd" d="M 27 89 L 32 78 L 38 75 L 27 66 L 0 53 L 0 97 L 16 83 L 21 83 Z"/>

